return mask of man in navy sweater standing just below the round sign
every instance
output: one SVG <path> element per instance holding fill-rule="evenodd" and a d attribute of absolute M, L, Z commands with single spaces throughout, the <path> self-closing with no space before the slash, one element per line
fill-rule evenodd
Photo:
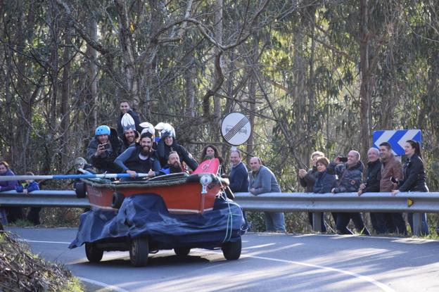
<path fill-rule="evenodd" d="M 248 170 L 241 159 L 241 151 L 236 149 L 230 152 L 231 171 L 229 174 L 229 188 L 234 193 L 248 191 Z"/>

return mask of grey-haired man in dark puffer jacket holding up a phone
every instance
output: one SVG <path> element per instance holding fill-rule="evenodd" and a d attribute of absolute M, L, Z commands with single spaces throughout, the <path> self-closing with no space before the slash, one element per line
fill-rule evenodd
<path fill-rule="evenodd" d="M 328 165 L 329 174 L 337 174 L 337 186 L 331 190 L 332 193 L 357 192 L 362 182 L 364 165 L 360 161 L 360 153 L 349 151 L 348 162 L 340 163 L 340 158 L 336 158 Z M 369 230 L 364 226 L 363 217 L 360 212 L 337 212 L 336 213 L 337 231 L 341 234 L 352 234 L 348 229 L 348 224 L 352 219 L 355 229 L 360 234 L 370 235 Z"/>

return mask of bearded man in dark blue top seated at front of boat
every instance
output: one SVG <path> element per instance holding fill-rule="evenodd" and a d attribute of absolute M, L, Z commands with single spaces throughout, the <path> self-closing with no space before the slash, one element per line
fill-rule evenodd
<path fill-rule="evenodd" d="M 115 164 L 130 175 L 122 181 L 136 180 L 137 172 L 147 173 L 148 177 L 159 174 L 160 163 L 153 150 L 153 139 L 150 133 L 141 134 L 139 144 L 131 146 L 115 159 Z"/>

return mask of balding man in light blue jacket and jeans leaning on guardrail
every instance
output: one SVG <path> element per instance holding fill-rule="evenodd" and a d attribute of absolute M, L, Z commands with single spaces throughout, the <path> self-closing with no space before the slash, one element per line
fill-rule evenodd
<path fill-rule="evenodd" d="M 276 177 L 268 167 L 262 165 L 258 157 L 250 159 L 250 183 L 248 191 L 257 196 L 260 193 L 280 193 L 281 188 L 277 183 Z M 285 219 L 283 212 L 264 212 L 265 227 L 267 231 L 286 232 Z"/>

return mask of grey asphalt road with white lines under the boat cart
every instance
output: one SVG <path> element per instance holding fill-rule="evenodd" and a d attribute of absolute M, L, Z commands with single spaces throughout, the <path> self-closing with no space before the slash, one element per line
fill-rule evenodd
<path fill-rule="evenodd" d="M 9 228 L 42 258 L 116 291 L 439 291 L 439 241 L 366 236 L 246 234 L 243 253 L 172 250 L 134 268 L 128 252 L 91 264 L 84 248 L 68 249 L 76 229 Z"/>

